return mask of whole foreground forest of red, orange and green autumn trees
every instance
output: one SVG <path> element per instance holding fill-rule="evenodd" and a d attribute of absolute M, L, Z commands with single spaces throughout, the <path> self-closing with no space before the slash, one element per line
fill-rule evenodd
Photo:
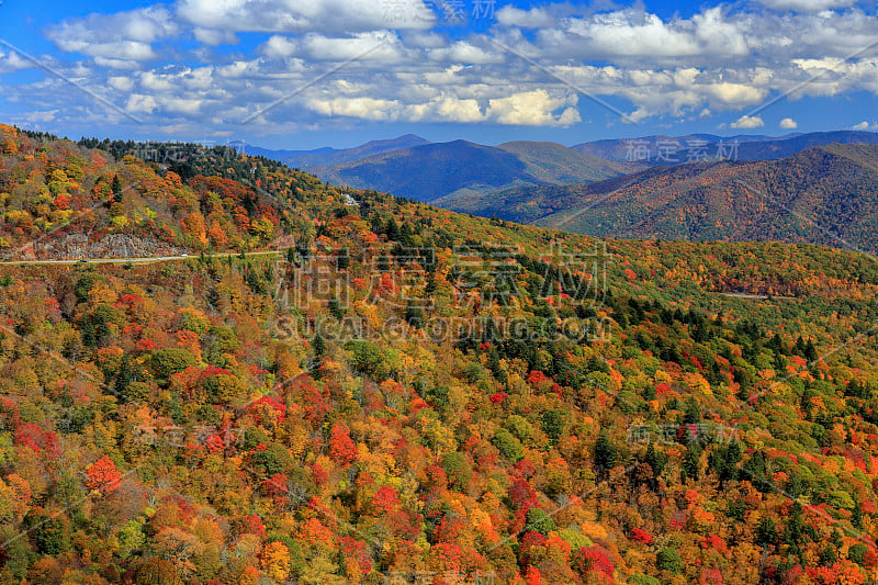
<path fill-rule="evenodd" d="M 4 131 L 11 250 L 204 255 L 0 266 L 0 583 L 876 578 L 871 258 Z"/>

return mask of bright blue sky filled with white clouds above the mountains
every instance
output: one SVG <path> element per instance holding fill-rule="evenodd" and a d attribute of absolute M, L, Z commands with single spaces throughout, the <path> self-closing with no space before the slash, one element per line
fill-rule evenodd
<path fill-rule="evenodd" d="M 345 148 L 878 130 L 875 1 L 0 0 L 0 122 Z"/>

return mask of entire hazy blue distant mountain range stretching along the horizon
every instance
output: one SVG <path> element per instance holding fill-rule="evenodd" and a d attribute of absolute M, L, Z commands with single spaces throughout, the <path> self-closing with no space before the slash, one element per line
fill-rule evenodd
<path fill-rule="evenodd" d="M 611 180 L 644 172 L 650 167 L 723 159 L 779 159 L 807 148 L 836 143 L 878 145 L 878 134 L 837 131 L 780 137 L 655 135 L 594 140 L 572 147 L 527 140 L 497 146 L 468 140 L 431 143 L 407 134 L 347 149 L 269 150 L 243 143 L 233 143 L 230 146 L 239 151 L 305 169 L 340 185 L 390 192 L 477 215 L 497 214 L 533 221 L 547 210 L 538 206 L 524 215 L 500 210 L 504 213 L 498 214 L 498 205 L 494 202 L 498 201 L 497 198 L 506 200 L 509 196 L 499 193 L 519 188 L 547 189 L 547 193 L 558 193 L 552 190 L 553 187 Z M 688 173 L 690 170 L 678 172 Z M 634 175 L 626 181 L 640 180 L 642 177 L 651 175 Z M 604 187 L 612 184 L 617 183 L 609 182 Z M 560 211 L 555 203 L 551 203 L 550 207 Z"/>

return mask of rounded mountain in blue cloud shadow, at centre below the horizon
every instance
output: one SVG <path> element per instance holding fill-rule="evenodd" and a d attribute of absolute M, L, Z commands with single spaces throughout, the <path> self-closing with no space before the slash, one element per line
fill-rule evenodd
<path fill-rule="evenodd" d="M 626 164 L 582 155 L 553 143 L 466 140 L 403 148 L 352 162 L 311 169 L 322 179 L 417 201 L 468 198 L 520 184 L 561 184 L 630 171 Z"/>

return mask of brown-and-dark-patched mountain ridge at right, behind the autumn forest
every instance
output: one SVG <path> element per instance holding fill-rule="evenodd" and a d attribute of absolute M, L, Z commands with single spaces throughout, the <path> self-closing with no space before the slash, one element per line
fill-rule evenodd
<path fill-rule="evenodd" d="M 653 167 L 592 183 L 511 189 L 479 203 L 448 206 L 599 237 L 878 250 L 878 146 L 832 144 L 783 159 Z"/>

